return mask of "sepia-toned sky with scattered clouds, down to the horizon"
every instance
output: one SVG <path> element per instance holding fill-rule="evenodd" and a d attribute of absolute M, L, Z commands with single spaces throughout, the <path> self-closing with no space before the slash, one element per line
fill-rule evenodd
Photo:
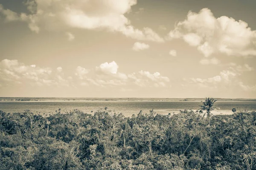
<path fill-rule="evenodd" d="M 255 6 L 0 0 L 0 96 L 256 98 Z"/>

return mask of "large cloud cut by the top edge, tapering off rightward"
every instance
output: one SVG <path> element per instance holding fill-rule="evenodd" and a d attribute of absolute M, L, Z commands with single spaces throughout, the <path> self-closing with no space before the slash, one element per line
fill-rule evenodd
<path fill-rule="evenodd" d="M 137 0 L 28 0 L 26 5 L 29 14 L 18 15 L 9 11 L 12 14 L 7 15 L 3 7 L 0 11 L 6 18 L 9 16 L 9 20 L 20 17 L 20 20 L 27 22 L 29 28 L 37 33 L 41 29 L 66 31 L 70 28 L 103 28 L 137 40 L 164 42 L 151 28 L 136 29 L 125 17 L 131 11 L 131 6 L 136 4 Z"/>

